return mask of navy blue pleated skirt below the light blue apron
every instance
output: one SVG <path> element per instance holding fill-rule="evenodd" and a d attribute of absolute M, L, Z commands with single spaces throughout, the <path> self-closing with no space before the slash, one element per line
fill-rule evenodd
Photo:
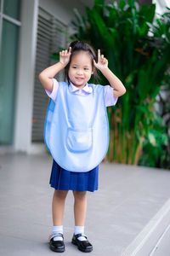
<path fill-rule="evenodd" d="M 50 185 L 56 190 L 90 191 L 98 190 L 99 166 L 89 172 L 70 172 L 53 160 Z"/>

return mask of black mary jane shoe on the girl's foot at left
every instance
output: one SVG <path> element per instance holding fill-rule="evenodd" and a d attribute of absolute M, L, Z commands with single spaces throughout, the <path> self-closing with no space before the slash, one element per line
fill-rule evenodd
<path fill-rule="evenodd" d="M 63 241 L 54 241 L 55 236 L 61 236 L 63 238 Z M 64 243 L 64 236 L 63 234 L 57 234 L 57 235 L 51 235 L 49 236 L 49 247 L 52 251 L 57 253 L 63 253 L 65 252 L 65 243 Z"/>

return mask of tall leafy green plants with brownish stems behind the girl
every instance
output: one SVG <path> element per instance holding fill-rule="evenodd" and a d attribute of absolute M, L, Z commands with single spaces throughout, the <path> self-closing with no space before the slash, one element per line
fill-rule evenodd
<path fill-rule="evenodd" d="M 140 7 L 133 0 L 95 0 L 93 9 L 86 9 L 86 17 L 75 10 L 73 25 L 77 33 L 71 39 L 101 49 L 112 72 L 127 89 L 115 107 L 107 108 L 110 145 L 106 158 L 110 161 L 137 165 L 145 142 L 150 141 L 150 132 L 157 132 L 154 103 L 170 62 L 170 19 L 167 12 L 154 25 L 155 10 L 155 4 Z M 104 77 L 100 79 L 107 83 Z M 163 150 L 162 142 L 158 143 L 159 150 L 152 144 L 156 157 Z M 149 158 L 150 154 L 150 162 Z"/>

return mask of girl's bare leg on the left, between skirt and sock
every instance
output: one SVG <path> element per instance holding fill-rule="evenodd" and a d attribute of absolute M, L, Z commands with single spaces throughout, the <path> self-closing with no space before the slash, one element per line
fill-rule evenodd
<path fill-rule="evenodd" d="M 62 225 L 67 193 L 68 190 L 54 190 L 52 203 L 54 226 Z"/>

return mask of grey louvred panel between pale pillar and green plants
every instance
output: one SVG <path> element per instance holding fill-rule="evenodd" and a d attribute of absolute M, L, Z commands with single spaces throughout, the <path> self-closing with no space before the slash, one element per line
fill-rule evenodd
<path fill-rule="evenodd" d="M 50 60 L 49 55 L 58 51 L 59 47 L 65 48 L 66 35 L 61 32 L 66 26 L 53 15 L 48 14 L 42 8 L 39 8 L 37 25 L 37 56 L 36 72 L 34 86 L 34 106 L 32 119 L 32 142 L 43 142 L 43 130 L 45 116 L 48 108 L 48 96 L 38 79 L 38 74 L 43 69 L 54 65 L 56 61 Z M 59 76 L 57 77 L 59 79 Z"/>

